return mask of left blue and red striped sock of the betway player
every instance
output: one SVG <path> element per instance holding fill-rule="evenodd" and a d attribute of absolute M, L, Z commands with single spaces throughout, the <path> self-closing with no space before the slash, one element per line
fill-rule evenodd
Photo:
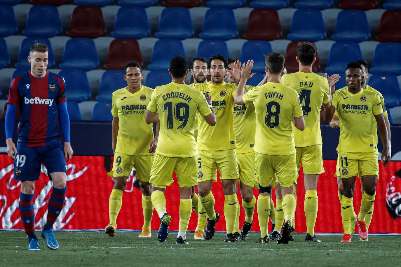
<path fill-rule="evenodd" d="M 38 239 L 35 234 L 35 211 L 33 210 L 33 194 L 27 195 L 20 193 L 20 205 L 19 205 L 22 225 L 28 236 L 28 242 L 33 239 Z"/>

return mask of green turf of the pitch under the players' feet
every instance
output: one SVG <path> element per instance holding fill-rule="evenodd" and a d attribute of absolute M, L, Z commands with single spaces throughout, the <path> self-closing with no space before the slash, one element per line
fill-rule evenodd
<path fill-rule="evenodd" d="M 118 233 L 109 238 L 105 233 L 56 232 L 60 248 L 51 251 L 40 239 L 41 251 L 28 251 L 23 232 L 0 232 L 0 266 L 400 266 L 401 237 L 370 236 L 369 242 L 340 243 L 340 235 L 321 235 L 322 243 L 304 242 L 297 234 L 288 245 L 256 244 L 259 234 L 247 241 L 224 243 L 223 234 L 212 240 L 176 245 L 176 233 L 160 243 L 156 233 L 151 239 L 140 239 L 138 233 Z M 38 233 L 40 236 L 40 233 Z"/>

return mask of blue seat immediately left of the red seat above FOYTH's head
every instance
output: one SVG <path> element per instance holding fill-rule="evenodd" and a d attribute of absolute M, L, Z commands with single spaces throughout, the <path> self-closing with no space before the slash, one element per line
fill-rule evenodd
<path fill-rule="evenodd" d="M 229 8 L 210 8 L 206 11 L 199 38 L 230 40 L 237 37 L 238 27 L 233 10 Z"/>

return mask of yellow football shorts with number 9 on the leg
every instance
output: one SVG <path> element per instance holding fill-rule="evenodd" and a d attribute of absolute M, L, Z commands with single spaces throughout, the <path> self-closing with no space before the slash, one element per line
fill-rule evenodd
<path fill-rule="evenodd" d="M 128 177 L 132 167 L 136 169 L 136 179 L 149 182 L 150 169 L 152 169 L 153 155 L 134 156 L 123 153 L 114 153 L 113 170 L 108 172 L 111 178 Z"/>

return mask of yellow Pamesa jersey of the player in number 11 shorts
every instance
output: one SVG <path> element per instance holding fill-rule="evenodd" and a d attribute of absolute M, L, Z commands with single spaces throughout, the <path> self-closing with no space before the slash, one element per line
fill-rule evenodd
<path fill-rule="evenodd" d="M 356 94 L 347 87 L 333 94 L 334 115 L 338 116 L 340 141 L 337 151 L 371 152 L 376 150 L 373 127 L 374 115 L 383 113 L 381 100 L 376 92 L 362 89 Z"/>

